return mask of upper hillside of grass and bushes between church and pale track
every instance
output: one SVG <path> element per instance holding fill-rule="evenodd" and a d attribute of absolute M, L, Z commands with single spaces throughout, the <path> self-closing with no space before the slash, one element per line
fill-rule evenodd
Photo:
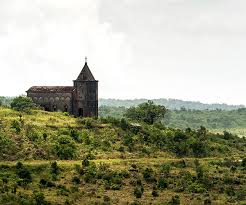
<path fill-rule="evenodd" d="M 114 118 L 73 118 L 33 110 L 33 114 L 0 108 L 0 159 L 81 159 L 95 156 L 231 156 L 245 151 L 245 138 L 201 127 L 179 130 L 160 123 Z"/>

